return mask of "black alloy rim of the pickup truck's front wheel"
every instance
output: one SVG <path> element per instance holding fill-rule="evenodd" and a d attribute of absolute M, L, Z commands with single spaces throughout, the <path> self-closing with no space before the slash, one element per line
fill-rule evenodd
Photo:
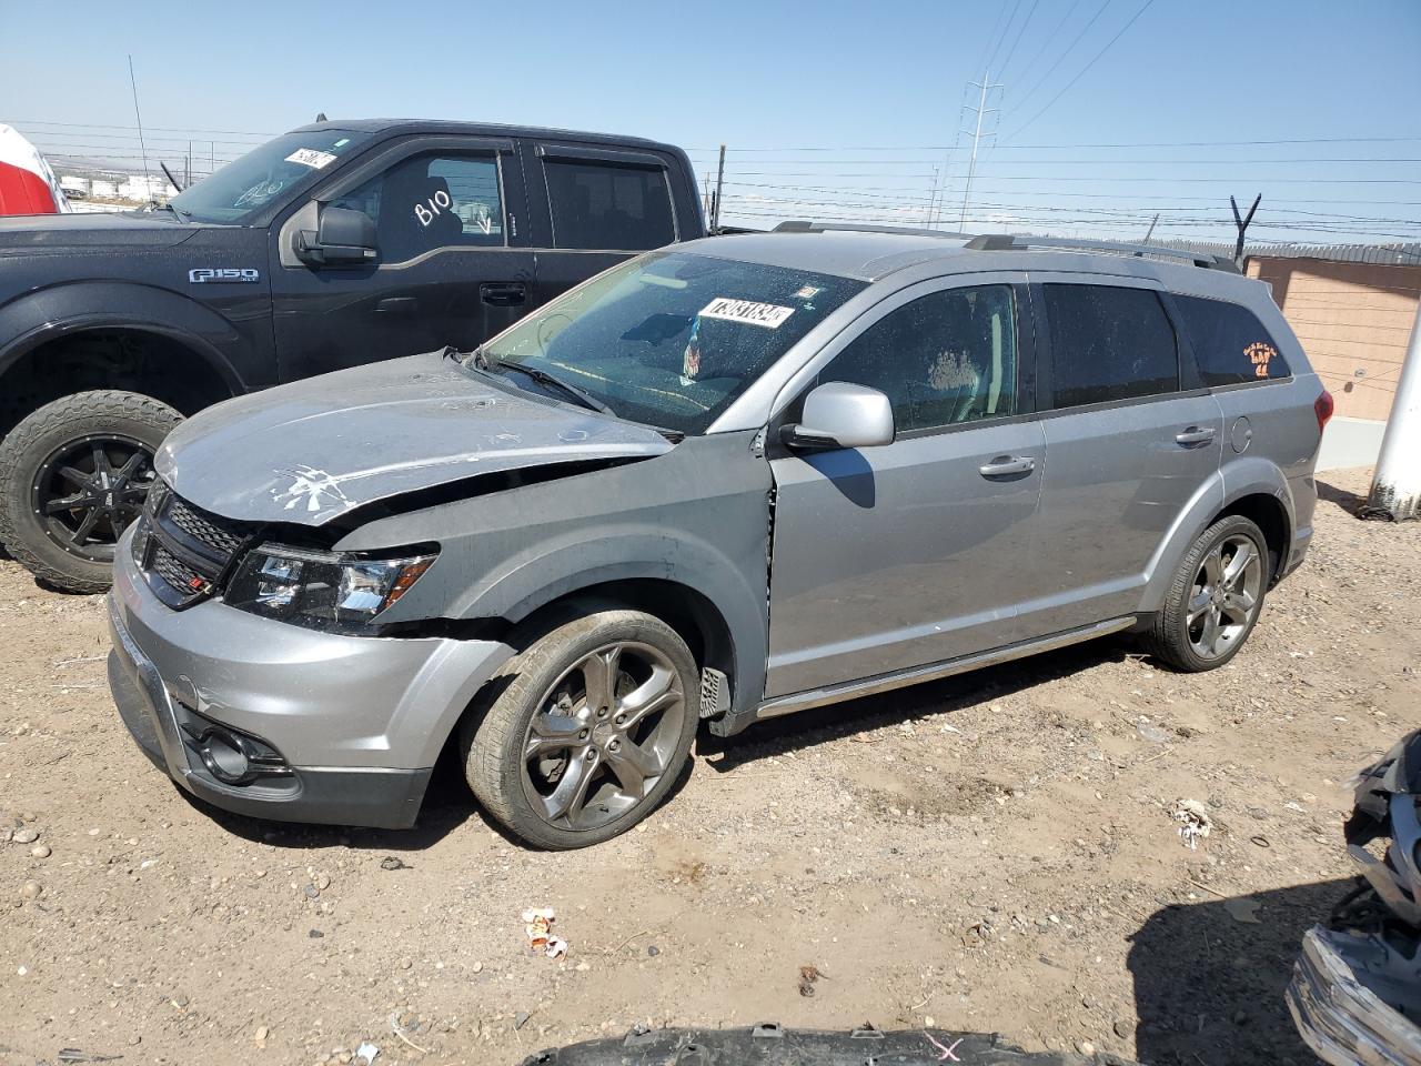
<path fill-rule="evenodd" d="M 55 449 L 34 475 L 30 506 L 45 536 L 91 561 L 114 557 L 114 544 L 144 509 L 155 479 L 153 453 L 121 435 L 84 436 Z"/>

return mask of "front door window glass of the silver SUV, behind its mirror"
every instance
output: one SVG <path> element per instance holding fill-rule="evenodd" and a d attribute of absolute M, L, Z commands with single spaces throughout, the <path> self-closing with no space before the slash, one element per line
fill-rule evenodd
<path fill-rule="evenodd" d="M 931 293 L 848 344 L 820 381 L 885 392 L 898 432 L 1016 412 L 1016 306 L 1010 286 Z"/>

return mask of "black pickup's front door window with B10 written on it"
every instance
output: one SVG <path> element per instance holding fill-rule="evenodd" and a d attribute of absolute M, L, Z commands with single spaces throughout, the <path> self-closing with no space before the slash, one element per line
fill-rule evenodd
<path fill-rule="evenodd" d="M 411 156 L 331 203 L 375 219 L 379 257 L 387 263 L 450 244 L 503 246 L 493 156 Z"/>

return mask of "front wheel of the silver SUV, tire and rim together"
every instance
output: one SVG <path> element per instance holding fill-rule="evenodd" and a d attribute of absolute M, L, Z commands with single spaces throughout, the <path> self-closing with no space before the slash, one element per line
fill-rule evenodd
<path fill-rule="evenodd" d="M 655 810 L 685 766 L 696 679 L 659 618 L 610 608 L 563 621 L 509 659 L 466 719 L 469 786 L 536 847 L 610 840 Z"/>

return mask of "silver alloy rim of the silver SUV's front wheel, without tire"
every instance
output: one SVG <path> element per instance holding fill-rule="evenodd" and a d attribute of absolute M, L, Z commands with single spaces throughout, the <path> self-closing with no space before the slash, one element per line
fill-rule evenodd
<path fill-rule="evenodd" d="M 523 790 L 550 826 L 598 829 L 635 807 L 676 752 L 681 675 L 641 642 L 584 655 L 551 685 L 523 738 Z"/>

